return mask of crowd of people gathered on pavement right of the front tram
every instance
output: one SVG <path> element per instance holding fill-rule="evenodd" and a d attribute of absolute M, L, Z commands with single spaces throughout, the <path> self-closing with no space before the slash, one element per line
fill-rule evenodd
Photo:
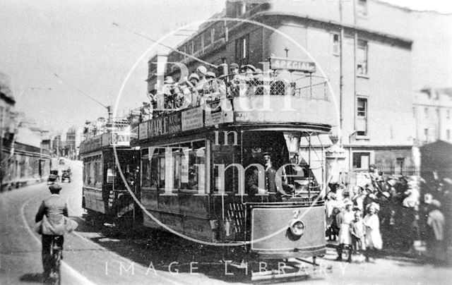
<path fill-rule="evenodd" d="M 415 241 L 425 241 L 434 263 L 446 262 L 451 243 L 452 181 L 426 183 L 422 178 L 383 177 L 369 166 L 368 182 L 347 190 L 331 183 L 326 195 L 326 236 L 343 252 L 370 260 L 382 248 L 414 252 Z"/>

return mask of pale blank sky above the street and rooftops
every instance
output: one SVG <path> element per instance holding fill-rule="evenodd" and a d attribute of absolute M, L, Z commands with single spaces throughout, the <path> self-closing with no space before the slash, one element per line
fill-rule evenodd
<path fill-rule="evenodd" d="M 449 0 L 385 1 L 452 13 Z M 106 117 L 101 104 L 115 103 L 129 75 L 121 115 L 147 101 L 146 62 L 157 52 L 146 54 L 129 74 L 153 44 L 131 31 L 158 40 L 183 25 L 195 23 L 188 30 L 196 28 L 224 4 L 224 0 L 2 0 L 0 71 L 11 77 L 16 109 L 51 131 Z M 177 35 L 164 43 L 175 47 L 182 40 L 184 36 Z"/>

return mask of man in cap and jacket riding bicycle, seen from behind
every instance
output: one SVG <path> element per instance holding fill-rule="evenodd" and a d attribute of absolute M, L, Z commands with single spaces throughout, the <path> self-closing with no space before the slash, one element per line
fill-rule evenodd
<path fill-rule="evenodd" d="M 55 236 L 57 246 L 61 248 L 62 251 L 64 234 L 66 233 L 65 217 L 68 217 L 66 202 L 59 195 L 61 186 L 54 183 L 49 186 L 49 190 L 52 195 L 42 201 L 40 209 L 37 211 L 35 217 L 35 222 L 42 221 L 42 267 L 44 267 L 44 284 L 49 280 L 52 270 L 52 240 Z"/>

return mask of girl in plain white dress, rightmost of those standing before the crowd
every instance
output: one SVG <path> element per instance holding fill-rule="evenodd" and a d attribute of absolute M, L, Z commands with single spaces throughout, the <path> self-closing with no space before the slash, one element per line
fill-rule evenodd
<path fill-rule="evenodd" d="M 376 250 L 381 250 L 383 241 L 380 234 L 380 220 L 376 215 L 378 205 L 371 202 L 367 205 L 367 214 L 364 217 L 364 226 L 366 226 L 366 261 L 369 261 L 370 255 L 375 257 Z"/>

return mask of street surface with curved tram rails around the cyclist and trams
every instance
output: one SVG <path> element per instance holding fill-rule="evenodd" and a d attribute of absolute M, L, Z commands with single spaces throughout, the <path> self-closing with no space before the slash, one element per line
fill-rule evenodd
<path fill-rule="evenodd" d="M 160 231 L 119 233 L 85 221 L 81 208 L 82 164 L 71 166 L 73 180 L 62 183 L 69 216 L 78 222 L 64 242 L 63 284 L 234 284 L 250 283 L 243 270 L 221 264 L 220 248 L 203 248 Z M 40 236 L 35 213 L 49 195 L 45 183 L 0 193 L 0 284 L 40 284 Z M 369 263 L 334 261 L 333 248 L 303 272 L 309 284 L 451 284 L 452 269 L 433 267 L 422 258 L 386 256 Z M 190 262 L 192 263 L 190 269 Z M 209 263 L 208 263 L 209 262 Z M 233 275 L 231 275 L 233 274 Z M 285 284 L 299 284 L 287 281 Z"/>

